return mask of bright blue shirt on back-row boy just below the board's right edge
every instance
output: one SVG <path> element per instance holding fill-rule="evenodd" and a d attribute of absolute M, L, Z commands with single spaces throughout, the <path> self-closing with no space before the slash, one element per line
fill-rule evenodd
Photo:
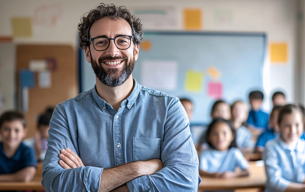
<path fill-rule="evenodd" d="M 269 124 L 269 115 L 262 110 L 249 112 L 247 124 L 257 128 L 264 128 L 267 130 Z"/>

